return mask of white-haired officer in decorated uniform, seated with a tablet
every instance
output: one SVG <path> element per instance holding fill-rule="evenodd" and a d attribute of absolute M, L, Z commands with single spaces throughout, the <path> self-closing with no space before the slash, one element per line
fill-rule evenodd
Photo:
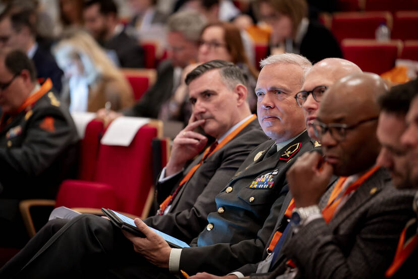
<path fill-rule="evenodd" d="M 289 53 L 273 55 L 263 62 L 256 89 L 258 119 L 272 140 L 257 147 L 217 195 L 217 212 L 208 215 L 208 224 L 192 241 L 192 247 L 170 248 L 140 219 L 135 221 L 146 238 L 122 234 L 108 220 L 82 215 L 56 233 L 17 277 L 103 273 L 152 278 L 158 274 L 165 278 L 180 269 L 191 274 L 225 274 L 244 263 L 258 261 L 287 193 L 285 172 L 289 162 L 314 147 L 304 131 L 302 110 L 293 99 L 310 67 L 308 60 Z M 188 82 L 193 86 L 196 80 L 188 78 Z M 202 94 L 211 97 L 212 93 L 207 90 Z M 71 259 L 60 259 L 68 254 Z M 44 268 L 46 262 L 48 269 Z M 97 268 L 103 266 L 102 262 L 108 263 L 106 268 Z"/>

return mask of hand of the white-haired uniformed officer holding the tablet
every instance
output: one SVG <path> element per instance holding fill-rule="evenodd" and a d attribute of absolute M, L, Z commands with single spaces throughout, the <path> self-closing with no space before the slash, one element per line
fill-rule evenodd
<path fill-rule="evenodd" d="M 135 225 L 138 230 L 144 233 L 146 238 L 134 236 L 124 230 L 122 233 L 134 244 L 134 250 L 144 256 L 150 263 L 163 268 L 168 268 L 171 248 L 167 242 L 152 231 L 145 223 L 135 219 Z"/>

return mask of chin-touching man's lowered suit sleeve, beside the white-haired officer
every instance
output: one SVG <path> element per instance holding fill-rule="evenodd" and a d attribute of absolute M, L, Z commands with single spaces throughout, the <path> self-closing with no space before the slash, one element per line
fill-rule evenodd
<path fill-rule="evenodd" d="M 250 129 L 248 127 L 247 132 L 238 134 L 236 138 L 212 155 L 216 157 L 209 157 L 200 166 L 200 168 L 206 168 L 213 175 L 208 178 L 201 176 L 198 180 L 190 181 L 190 183 L 206 184 L 198 198 L 189 201 L 193 204 L 191 208 L 180 212 L 170 212 L 163 216 L 149 217 L 145 220 L 146 224 L 186 242 L 195 238 L 207 225 L 207 215 L 217 209 L 215 196 L 227 185 L 253 148 L 265 139 L 257 120 L 254 120 L 250 125 L 257 128 Z M 172 189 L 172 187 L 168 188 Z M 189 189 L 188 191 L 195 189 L 200 191 L 202 188 L 188 187 L 185 191 L 187 189 Z M 188 193 L 184 192 L 181 199 L 187 198 Z"/>

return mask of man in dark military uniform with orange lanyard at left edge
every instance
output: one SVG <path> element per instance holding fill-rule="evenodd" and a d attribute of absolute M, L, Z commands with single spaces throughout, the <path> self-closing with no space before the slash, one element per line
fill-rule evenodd
<path fill-rule="evenodd" d="M 21 246 L 27 240 L 20 200 L 53 199 L 59 183 L 75 174 L 76 128 L 51 89 L 49 79 L 37 83 L 25 53 L 0 52 L 1 246 Z"/>

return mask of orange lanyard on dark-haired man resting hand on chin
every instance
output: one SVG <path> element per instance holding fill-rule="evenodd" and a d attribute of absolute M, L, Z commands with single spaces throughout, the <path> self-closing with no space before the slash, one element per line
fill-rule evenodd
<path fill-rule="evenodd" d="M 180 184 L 178 185 L 177 189 L 174 191 L 172 195 L 169 195 L 165 200 L 160 204 L 159 214 L 162 215 L 164 213 L 164 210 L 167 208 L 167 206 L 171 203 L 171 201 L 174 199 L 175 195 L 177 194 L 178 190 L 193 176 L 193 174 L 199 169 L 199 166 L 202 164 L 203 160 L 212 155 L 216 150 L 219 150 L 222 148 L 225 144 L 227 144 L 231 139 L 233 139 L 238 133 L 240 133 L 248 124 L 250 124 L 253 120 L 257 118 L 256 115 L 252 115 L 249 119 L 247 119 L 243 124 L 235 128 L 229 135 L 227 135 L 210 153 L 210 147 L 206 148 L 205 152 L 203 152 L 202 159 L 200 162 L 195 165 L 182 179 Z"/>

